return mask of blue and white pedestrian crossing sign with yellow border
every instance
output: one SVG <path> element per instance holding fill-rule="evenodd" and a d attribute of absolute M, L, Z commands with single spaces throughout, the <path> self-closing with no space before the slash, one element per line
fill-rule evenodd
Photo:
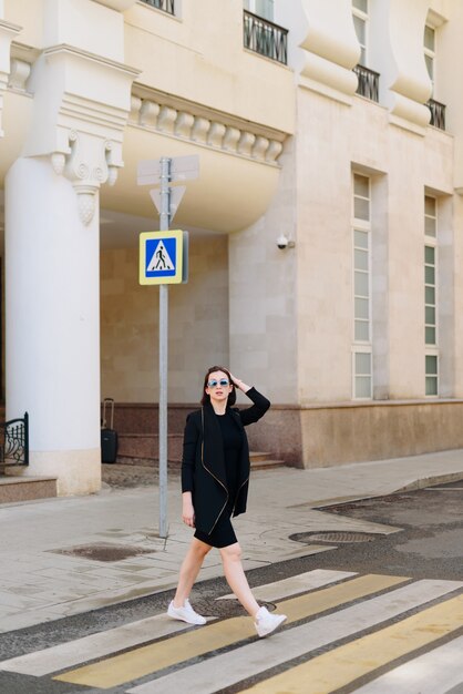
<path fill-rule="evenodd" d="M 183 280 L 183 238 L 181 231 L 140 235 L 140 284 L 179 284 Z"/>

